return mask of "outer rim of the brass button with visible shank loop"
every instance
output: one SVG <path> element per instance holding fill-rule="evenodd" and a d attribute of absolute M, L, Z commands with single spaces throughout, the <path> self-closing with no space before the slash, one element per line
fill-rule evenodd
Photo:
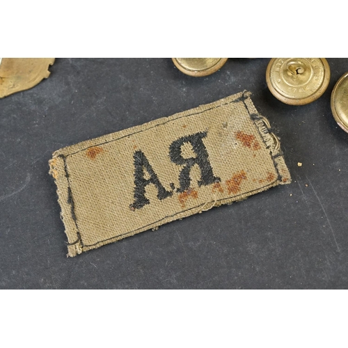
<path fill-rule="evenodd" d="M 331 77 L 330 66 L 328 61 L 326 61 L 326 58 L 319 58 L 324 65 L 324 81 L 322 82 L 322 85 L 315 91 L 315 93 L 313 93 L 312 95 L 308 95 L 308 97 L 305 97 L 305 98 L 285 97 L 285 95 L 282 95 L 281 93 L 279 93 L 278 90 L 276 90 L 276 88 L 274 88 L 273 84 L 271 83 L 271 68 L 273 67 L 276 59 L 278 58 L 271 58 L 271 61 L 269 61 L 269 64 L 267 65 L 266 82 L 271 93 L 274 95 L 274 97 L 280 100 L 280 102 L 283 102 L 289 105 L 306 105 L 311 102 L 314 102 L 319 97 L 321 97 L 326 91 L 326 89 L 328 88 L 330 77 Z"/>

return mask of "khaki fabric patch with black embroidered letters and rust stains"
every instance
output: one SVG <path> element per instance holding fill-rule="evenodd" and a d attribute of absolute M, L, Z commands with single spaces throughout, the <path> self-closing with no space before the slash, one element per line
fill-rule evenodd
<path fill-rule="evenodd" d="M 69 256 L 290 183 L 246 91 L 63 148 L 49 165 Z"/>

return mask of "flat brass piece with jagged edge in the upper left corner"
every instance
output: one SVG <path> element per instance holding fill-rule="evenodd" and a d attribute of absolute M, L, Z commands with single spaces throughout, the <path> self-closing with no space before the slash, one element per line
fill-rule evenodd
<path fill-rule="evenodd" d="M 0 98 L 36 86 L 49 77 L 54 58 L 2 58 L 0 62 Z"/>

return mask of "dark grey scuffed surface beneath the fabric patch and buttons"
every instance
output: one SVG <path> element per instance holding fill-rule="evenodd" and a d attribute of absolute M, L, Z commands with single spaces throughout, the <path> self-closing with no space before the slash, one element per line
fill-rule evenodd
<path fill-rule="evenodd" d="M 347 288 L 348 134 L 330 96 L 348 59 L 328 61 L 326 93 L 289 106 L 267 88 L 267 58 L 230 58 L 203 78 L 170 58 L 56 59 L 49 79 L 0 100 L 0 288 Z M 244 89 L 292 184 L 65 257 L 52 152 Z"/>

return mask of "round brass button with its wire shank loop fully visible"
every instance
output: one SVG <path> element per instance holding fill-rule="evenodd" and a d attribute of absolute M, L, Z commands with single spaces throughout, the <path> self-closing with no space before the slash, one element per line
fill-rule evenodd
<path fill-rule="evenodd" d="M 329 86 L 329 63 L 325 58 L 272 58 L 266 81 L 280 102 L 308 104 L 317 100 Z"/>

